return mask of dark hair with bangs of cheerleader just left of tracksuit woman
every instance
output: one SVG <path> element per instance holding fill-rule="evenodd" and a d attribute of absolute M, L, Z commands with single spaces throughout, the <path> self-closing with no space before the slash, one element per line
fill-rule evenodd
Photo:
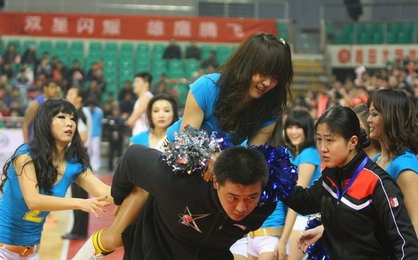
<path fill-rule="evenodd" d="M 288 135 L 286 134 L 286 128 L 291 125 L 297 125 L 298 127 L 303 129 L 303 133 L 305 136 L 305 140 L 303 144 L 296 151 L 296 147 L 292 144 L 291 140 L 289 139 Z M 293 155 L 297 155 L 300 153 L 304 148 L 315 146 L 315 130 L 314 130 L 314 119 L 312 118 L 311 114 L 304 109 L 295 109 L 288 112 L 288 116 L 286 121 L 284 122 L 284 141 L 286 142 L 286 146 L 293 151 Z"/>

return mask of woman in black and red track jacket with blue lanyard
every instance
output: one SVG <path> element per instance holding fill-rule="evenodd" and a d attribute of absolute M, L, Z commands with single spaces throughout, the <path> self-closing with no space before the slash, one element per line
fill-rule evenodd
<path fill-rule="evenodd" d="M 320 212 L 331 259 L 418 259 L 418 239 L 398 185 L 362 146 L 366 134 L 348 107 L 332 107 L 316 123 L 322 176 L 284 201 L 301 214 Z"/>

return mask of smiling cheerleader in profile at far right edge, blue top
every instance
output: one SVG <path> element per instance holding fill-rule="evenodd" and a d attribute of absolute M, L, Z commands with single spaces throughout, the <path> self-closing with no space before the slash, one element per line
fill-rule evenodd
<path fill-rule="evenodd" d="M 418 118 L 415 106 L 400 89 L 380 89 L 367 104 L 370 137 L 382 153 L 373 162 L 392 176 L 401 188 L 405 206 L 418 234 Z"/>

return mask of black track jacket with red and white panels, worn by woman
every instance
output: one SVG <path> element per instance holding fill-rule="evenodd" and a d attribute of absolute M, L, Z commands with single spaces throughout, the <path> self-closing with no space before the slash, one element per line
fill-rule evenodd
<path fill-rule="evenodd" d="M 331 259 L 418 259 L 403 194 L 376 163 L 369 160 L 337 199 L 337 189 L 346 187 L 364 158 L 360 151 L 346 167 L 325 168 L 310 188 L 296 186 L 285 204 L 302 214 L 320 212 Z"/>

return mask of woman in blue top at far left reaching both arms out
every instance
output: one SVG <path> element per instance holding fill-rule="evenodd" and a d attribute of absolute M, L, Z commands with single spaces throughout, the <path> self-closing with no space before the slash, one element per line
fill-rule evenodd
<path fill-rule="evenodd" d="M 98 217 L 113 202 L 110 187 L 93 176 L 77 132 L 77 110 L 67 100 L 47 100 L 33 120 L 33 141 L 3 167 L 0 191 L 0 259 L 39 259 L 49 211 L 79 209 Z M 64 198 L 72 182 L 92 199 Z"/>

